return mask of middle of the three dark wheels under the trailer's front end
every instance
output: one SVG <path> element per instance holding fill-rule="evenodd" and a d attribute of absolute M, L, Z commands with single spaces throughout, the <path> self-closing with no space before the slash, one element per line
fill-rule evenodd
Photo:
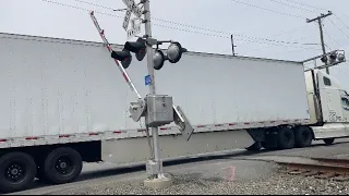
<path fill-rule="evenodd" d="M 294 134 L 289 127 L 281 127 L 277 133 L 277 147 L 279 149 L 291 149 L 294 147 Z"/>

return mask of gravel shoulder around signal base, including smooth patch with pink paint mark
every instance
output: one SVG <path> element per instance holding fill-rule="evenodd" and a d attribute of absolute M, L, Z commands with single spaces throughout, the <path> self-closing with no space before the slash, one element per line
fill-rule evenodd
<path fill-rule="evenodd" d="M 75 185 L 47 195 L 347 195 L 349 182 L 321 180 L 282 173 L 282 168 L 264 161 L 212 160 L 166 168 L 173 179 L 168 188 L 144 187 L 144 173 L 129 177 Z"/>

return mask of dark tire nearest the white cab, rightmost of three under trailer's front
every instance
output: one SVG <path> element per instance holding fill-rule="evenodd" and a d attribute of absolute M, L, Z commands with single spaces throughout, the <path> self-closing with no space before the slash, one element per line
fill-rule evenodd
<path fill-rule="evenodd" d="M 298 126 L 294 130 L 294 143 L 296 147 L 302 148 L 302 147 L 310 147 L 313 142 L 313 133 L 310 127 L 306 126 Z"/>

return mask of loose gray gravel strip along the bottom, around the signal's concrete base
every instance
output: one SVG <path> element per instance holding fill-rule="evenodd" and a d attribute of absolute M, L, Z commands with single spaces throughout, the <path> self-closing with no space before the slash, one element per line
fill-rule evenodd
<path fill-rule="evenodd" d="M 196 174 L 173 175 L 173 185 L 163 189 L 149 189 L 144 187 L 142 180 L 116 181 L 88 187 L 75 187 L 59 193 L 68 195 L 347 195 L 349 194 L 349 182 L 337 182 L 332 180 L 304 177 L 275 172 L 269 177 L 254 181 L 229 182 L 221 179 L 202 179 Z"/>

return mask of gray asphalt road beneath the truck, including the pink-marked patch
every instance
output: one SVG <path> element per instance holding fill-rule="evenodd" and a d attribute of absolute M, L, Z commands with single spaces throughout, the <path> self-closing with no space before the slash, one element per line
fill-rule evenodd
<path fill-rule="evenodd" d="M 245 150 L 234 150 L 229 155 L 218 155 L 205 158 L 192 158 L 185 160 L 170 161 L 165 163 L 166 172 L 184 179 L 201 179 L 205 182 L 226 181 L 253 181 L 268 176 L 277 166 L 270 162 L 248 160 L 263 156 L 298 156 L 298 157 L 322 157 L 322 158 L 348 158 L 349 139 L 337 140 L 332 146 L 325 146 L 316 142 L 309 148 L 294 148 L 289 150 L 266 151 L 256 154 Z M 117 167 L 112 163 L 89 163 L 84 166 L 83 173 L 79 181 L 70 184 L 48 186 L 37 183 L 33 189 L 22 194 L 61 194 L 74 193 L 73 189 L 88 189 L 95 185 L 121 183 L 125 181 L 141 182 L 146 177 L 144 166 Z M 182 179 L 183 179 L 182 177 Z M 132 189 L 132 188 L 131 188 Z M 129 194 L 129 193 L 121 193 Z"/>

